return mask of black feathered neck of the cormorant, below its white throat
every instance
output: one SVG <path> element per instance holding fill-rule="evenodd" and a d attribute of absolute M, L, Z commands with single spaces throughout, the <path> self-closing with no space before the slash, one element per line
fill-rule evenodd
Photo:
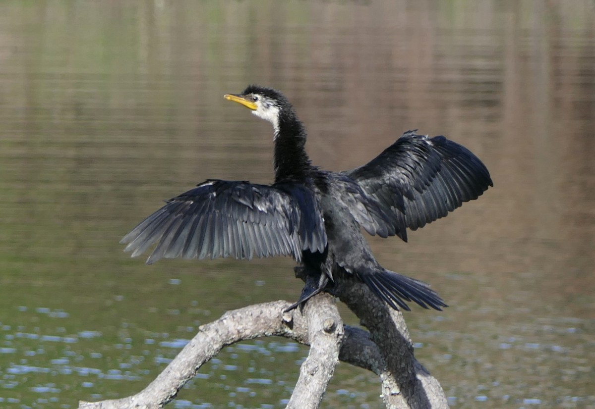
<path fill-rule="evenodd" d="M 275 134 L 275 182 L 305 180 L 312 171 L 306 153 L 306 130 L 293 112 L 280 115 Z"/>

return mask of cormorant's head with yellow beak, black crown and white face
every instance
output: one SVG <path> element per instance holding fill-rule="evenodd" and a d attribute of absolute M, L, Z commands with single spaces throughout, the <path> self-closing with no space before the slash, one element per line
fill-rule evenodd
<path fill-rule="evenodd" d="M 256 117 L 271 122 L 275 130 L 275 136 L 279 131 L 279 124 L 282 119 L 295 118 L 289 100 L 272 88 L 250 85 L 241 94 L 225 95 L 225 99 L 241 103 L 246 108 L 252 109 L 252 114 L 256 115 Z"/>

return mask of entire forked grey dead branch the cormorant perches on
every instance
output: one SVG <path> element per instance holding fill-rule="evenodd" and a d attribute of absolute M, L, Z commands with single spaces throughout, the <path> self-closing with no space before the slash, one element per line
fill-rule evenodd
<path fill-rule="evenodd" d="M 317 408 L 339 360 L 377 374 L 387 408 L 447 408 L 439 383 L 415 360 L 400 312 L 384 306 L 361 283 L 342 284 L 337 295 L 360 317 L 369 333 L 344 326 L 333 297 L 328 294 L 313 297 L 303 312 L 297 309 L 283 314 L 290 305 L 286 301 L 244 307 L 201 326 L 198 334 L 143 391 L 121 399 L 80 401 L 79 408 L 162 408 L 222 348 L 271 335 L 311 346 L 288 408 Z"/>

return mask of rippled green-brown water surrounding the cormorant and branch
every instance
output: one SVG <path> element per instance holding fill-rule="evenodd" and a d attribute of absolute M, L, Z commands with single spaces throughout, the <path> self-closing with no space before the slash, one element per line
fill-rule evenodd
<path fill-rule="evenodd" d="M 270 124 L 223 99 L 282 90 L 325 169 L 444 134 L 494 188 L 370 238 L 444 312 L 405 313 L 457 408 L 595 408 L 595 2 L 0 4 L 0 407 L 124 397 L 228 309 L 296 300 L 289 258 L 130 259 L 118 241 L 206 178 L 270 183 Z M 347 323 L 358 320 L 340 306 Z M 280 408 L 308 350 L 233 345 L 176 408 Z M 379 408 L 339 364 L 324 408 Z"/>

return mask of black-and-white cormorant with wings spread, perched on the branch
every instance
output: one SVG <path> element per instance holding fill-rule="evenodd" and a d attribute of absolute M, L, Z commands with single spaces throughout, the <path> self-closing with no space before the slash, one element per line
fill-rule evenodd
<path fill-rule="evenodd" d="M 493 186 L 477 156 L 444 136 L 412 130 L 365 165 L 331 172 L 312 164 L 306 128 L 281 92 L 252 84 L 224 97 L 273 125 L 274 182 L 208 179 L 134 227 L 121 240 L 125 251 L 139 256 L 156 243 L 147 264 L 164 257 L 292 256 L 296 271 L 315 285 L 306 284 L 286 311 L 332 292 L 339 274 L 363 282 L 395 310 L 411 310 L 408 302 L 447 307 L 429 284 L 383 268 L 362 229 L 407 241 L 407 229 L 477 199 Z"/>

